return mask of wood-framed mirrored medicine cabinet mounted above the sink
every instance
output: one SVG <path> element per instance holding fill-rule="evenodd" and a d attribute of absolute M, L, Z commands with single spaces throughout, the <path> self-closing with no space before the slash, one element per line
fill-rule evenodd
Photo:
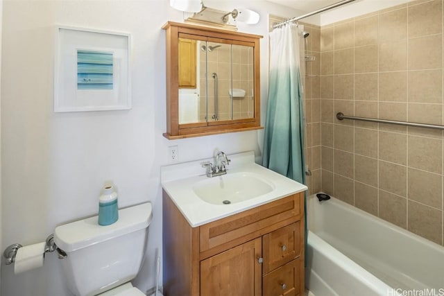
<path fill-rule="evenodd" d="M 181 24 L 167 42 L 167 139 L 261 129 L 260 35 Z"/>

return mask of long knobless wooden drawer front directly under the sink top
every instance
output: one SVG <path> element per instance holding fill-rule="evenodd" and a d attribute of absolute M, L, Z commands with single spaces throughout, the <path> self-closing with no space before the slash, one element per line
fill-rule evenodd
<path fill-rule="evenodd" d="M 300 220 L 301 198 L 296 193 L 200 226 L 200 259 Z"/>

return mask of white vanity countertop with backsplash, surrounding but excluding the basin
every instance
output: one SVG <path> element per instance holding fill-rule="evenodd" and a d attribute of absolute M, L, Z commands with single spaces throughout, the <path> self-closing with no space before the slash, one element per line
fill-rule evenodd
<path fill-rule="evenodd" d="M 214 162 L 214 159 L 200 159 L 194 162 L 162 166 L 160 170 L 161 182 L 164 191 L 168 193 L 171 200 L 176 204 L 191 227 L 210 223 L 232 214 L 237 214 L 247 209 L 252 209 L 273 200 L 307 190 L 307 186 L 284 177 L 274 171 L 255 164 L 253 151 L 228 155 L 231 159 L 227 167 L 227 175 L 234 173 L 251 173 L 259 175 L 267 182 L 273 184 L 271 192 L 232 204 L 211 204 L 200 199 L 194 193 L 194 184 L 209 179 L 205 175 L 203 162 Z M 223 176 L 221 176 L 223 178 Z M 213 177 L 213 178 L 221 178 Z"/>

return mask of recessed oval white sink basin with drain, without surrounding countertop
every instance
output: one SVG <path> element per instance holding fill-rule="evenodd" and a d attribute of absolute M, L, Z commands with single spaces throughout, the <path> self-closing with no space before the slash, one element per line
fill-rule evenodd
<path fill-rule="evenodd" d="M 210 204 L 233 204 L 257 198 L 273 191 L 275 186 L 252 173 L 232 173 L 194 184 L 198 198 Z"/>

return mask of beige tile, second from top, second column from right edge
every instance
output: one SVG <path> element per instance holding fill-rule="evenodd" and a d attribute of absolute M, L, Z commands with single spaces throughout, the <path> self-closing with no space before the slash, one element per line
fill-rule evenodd
<path fill-rule="evenodd" d="M 407 70 L 407 40 L 379 44 L 379 71 Z"/>

